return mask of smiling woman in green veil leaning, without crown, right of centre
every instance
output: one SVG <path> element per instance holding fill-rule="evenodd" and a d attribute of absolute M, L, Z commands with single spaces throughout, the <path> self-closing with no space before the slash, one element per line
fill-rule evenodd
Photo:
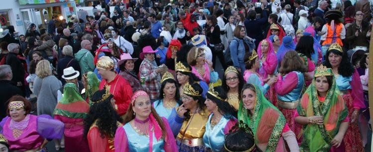
<path fill-rule="evenodd" d="M 299 151 L 295 134 L 285 117 L 253 84 L 245 84 L 241 91 L 238 120 L 244 121 L 253 131 L 255 145 L 263 152 L 286 152 L 285 142 L 291 152 Z"/>

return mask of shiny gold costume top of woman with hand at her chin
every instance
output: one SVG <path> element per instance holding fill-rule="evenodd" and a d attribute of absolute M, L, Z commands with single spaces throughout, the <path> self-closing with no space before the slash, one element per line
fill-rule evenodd
<path fill-rule="evenodd" d="M 183 122 L 183 126 L 179 131 L 178 138 L 183 139 L 200 139 L 203 138 L 206 129 L 209 112 L 207 110 L 197 112 L 196 114 L 190 113 L 190 119 Z M 190 124 L 189 124 L 190 122 Z M 189 126 L 187 127 L 187 125 Z M 187 128 L 187 131 L 186 131 Z"/>

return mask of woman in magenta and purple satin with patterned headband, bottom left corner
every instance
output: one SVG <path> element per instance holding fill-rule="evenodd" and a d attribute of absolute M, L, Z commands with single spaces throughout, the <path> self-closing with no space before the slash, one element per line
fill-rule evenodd
<path fill-rule="evenodd" d="M 64 123 L 49 115 L 31 115 L 31 102 L 24 97 L 11 97 L 7 107 L 0 133 L 7 139 L 10 151 L 45 152 L 48 141 L 62 138 Z"/>

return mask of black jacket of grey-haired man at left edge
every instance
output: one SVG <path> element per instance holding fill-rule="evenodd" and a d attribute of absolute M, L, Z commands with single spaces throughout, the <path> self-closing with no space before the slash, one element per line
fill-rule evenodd
<path fill-rule="evenodd" d="M 24 97 L 22 90 L 19 89 L 14 82 L 9 80 L 0 80 L 0 119 L 6 116 L 6 101 L 9 100 L 13 95 L 17 94 Z"/>

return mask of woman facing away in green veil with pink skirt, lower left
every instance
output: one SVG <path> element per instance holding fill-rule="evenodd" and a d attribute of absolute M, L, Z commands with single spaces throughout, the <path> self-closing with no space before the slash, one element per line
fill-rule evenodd
<path fill-rule="evenodd" d="M 82 98 L 75 83 L 66 83 L 64 96 L 56 105 L 54 119 L 65 124 L 65 152 L 89 152 L 87 138 L 83 136 L 84 118 L 90 105 Z"/>

